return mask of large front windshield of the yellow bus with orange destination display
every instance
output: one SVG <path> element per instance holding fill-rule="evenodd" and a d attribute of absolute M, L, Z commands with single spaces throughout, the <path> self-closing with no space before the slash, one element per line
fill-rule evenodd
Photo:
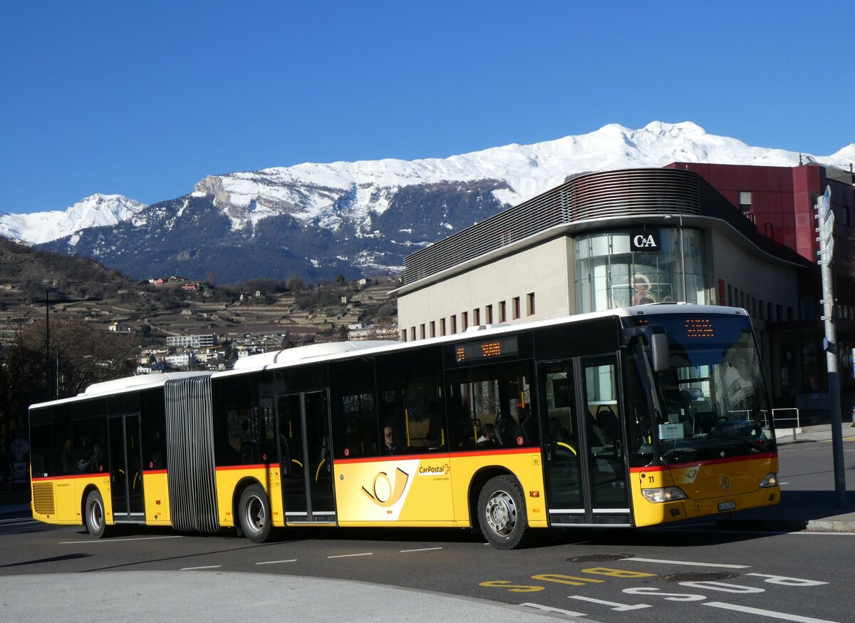
<path fill-rule="evenodd" d="M 658 372 L 658 454 L 670 462 L 772 452 L 769 398 L 746 316 L 645 315 L 668 332 L 670 366 Z"/>

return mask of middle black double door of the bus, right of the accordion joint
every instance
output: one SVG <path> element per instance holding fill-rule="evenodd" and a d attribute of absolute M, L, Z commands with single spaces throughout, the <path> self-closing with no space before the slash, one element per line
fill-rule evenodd
<path fill-rule="evenodd" d="M 335 523 L 327 392 L 280 395 L 280 471 L 286 524 Z"/>

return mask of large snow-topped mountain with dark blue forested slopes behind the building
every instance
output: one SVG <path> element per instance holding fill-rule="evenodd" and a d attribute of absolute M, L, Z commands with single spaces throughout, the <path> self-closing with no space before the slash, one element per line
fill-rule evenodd
<path fill-rule="evenodd" d="M 587 171 L 675 161 L 794 166 L 799 157 L 848 169 L 855 144 L 820 157 L 752 147 L 706 134 L 692 122 L 652 122 L 637 130 L 611 124 L 591 134 L 448 158 L 210 175 L 185 197 L 141 207 L 113 227 L 73 228 L 74 234 L 43 246 L 95 257 L 138 277 L 359 276 L 400 270 L 410 252 Z M 38 240 L 45 235 L 52 234 Z"/>

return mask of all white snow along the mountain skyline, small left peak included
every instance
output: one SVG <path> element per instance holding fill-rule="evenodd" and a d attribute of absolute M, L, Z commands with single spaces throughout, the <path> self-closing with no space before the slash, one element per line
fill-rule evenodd
<path fill-rule="evenodd" d="M 802 154 L 817 162 L 848 169 L 855 144 L 827 157 Z M 356 162 L 301 163 L 226 175 L 209 175 L 192 197 L 213 196 L 233 231 L 252 235 L 259 223 L 288 215 L 304 226 L 358 237 L 374 234 L 381 217 L 404 187 L 492 181 L 492 196 L 516 205 L 556 187 L 571 175 L 606 169 L 662 167 L 671 162 L 795 166 L 799 153 L 746 145 L 738 139 L 707 134 L 693 122 L 650 122 L 631 129 L 610 123 L 589 134 L 569 135 L 530 145 L 510 144 L 446 158 L 405 161 L 394 158 Z M 121 195 L 92 195 L 62 211 L 0 214 L 0 234 L 39 244 L 85 228 L 130 221 L 142 227 L 154 212 Z M 161 206 L 156 211 L 165 209 Z M 345 232 L 350 234 L 349 232 Z M 72 242 L 74 246 L 74 242 Z"/>

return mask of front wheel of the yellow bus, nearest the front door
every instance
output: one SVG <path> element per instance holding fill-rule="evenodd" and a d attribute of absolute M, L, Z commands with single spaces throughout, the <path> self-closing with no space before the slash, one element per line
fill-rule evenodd
<path fill-rule="evenodd" d="M 478 495 L 478 523 L 487 542 L 498 549 L 516 549 L 528 532 L 526 501 L 513 476 L 490 478 Z"/>

